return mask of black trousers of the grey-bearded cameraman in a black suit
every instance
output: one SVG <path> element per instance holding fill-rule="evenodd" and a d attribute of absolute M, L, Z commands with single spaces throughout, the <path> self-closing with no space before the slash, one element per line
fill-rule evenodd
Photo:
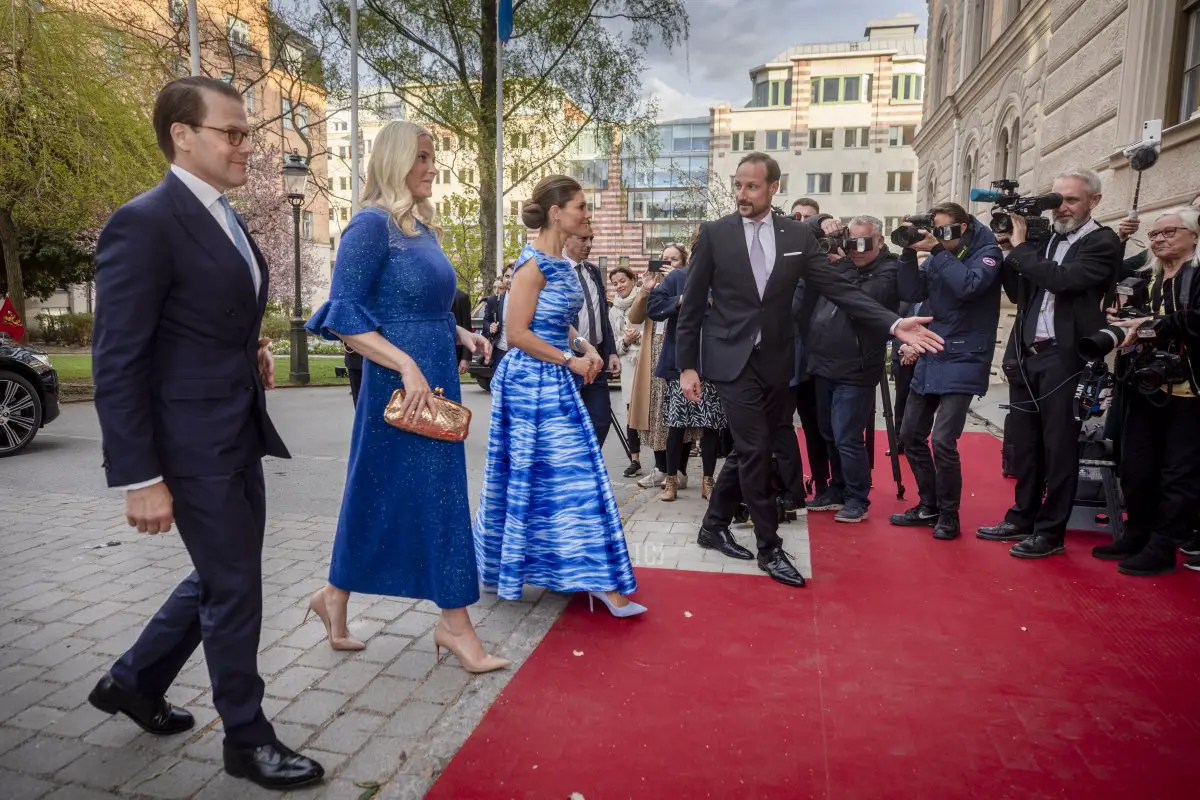
<path fill-rule="evenodd" d="M 1016 503 L 1004 519 L 1061 542 L 1079 481 L 1079 369 L 1052 349 L 1026 356 L 1024 372 L 1026 385 L 1008 387 Z"/>

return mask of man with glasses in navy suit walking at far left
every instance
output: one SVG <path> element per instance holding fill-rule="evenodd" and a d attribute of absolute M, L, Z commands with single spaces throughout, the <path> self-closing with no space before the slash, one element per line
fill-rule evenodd
<path fill-rule="evenodd" d="M 191 77 L 158 92 L 154 126 L 170 170 L 118 209 L 96 247 L 96 413 L 130 525 L 176 523 L 196 569 L 89 700 L 149 733 L 188 730 L 192 715 L 164 696 L 203 644 L 226 771 L 288 789 L 324 770 L 282 745 L 262 709 L 262 459 L 289 455 L 264 397 L 266 261 L 224 194 L 246 182 L 250 125 L 235 89 Z"/>

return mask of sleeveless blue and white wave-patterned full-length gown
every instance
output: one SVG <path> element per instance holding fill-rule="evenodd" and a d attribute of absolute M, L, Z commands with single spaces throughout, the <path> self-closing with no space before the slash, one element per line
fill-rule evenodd
<path fill-rule="evenodd" d="M 583 287 L 570 264 L 527 245 L 517 270 L 546 277 L 530 330 L 565 350 Z M 637 590 L 625 533 L 578 379 L 514 349 L 492 378 L 492 425 L 475 560 L 505 600 L 523 584 L 554 591 Z"/>

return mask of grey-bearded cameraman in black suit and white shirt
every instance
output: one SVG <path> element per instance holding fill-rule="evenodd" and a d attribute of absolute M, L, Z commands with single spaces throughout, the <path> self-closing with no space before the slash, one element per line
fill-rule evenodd
<path fill-rule="evenodd" d="M 1016 541 L 1009 551 L 1016 558 L 1066 552 L 1079 477 L 1079 341 L 1104 326 L 1102 300 L 1122 254 L 1116 233 L 1092 218 L 1100 188 L 1100 176 L 1090 169 L 1060 174 L 1054 193 L 1062 199 L 1048 241 L 1028 240 L 1030 222 L 1019 213 L 1009 217 L 1013 252 L 1004 259 L 1002 279 L 1016 303 L 1016 324 L 1003 369 L 1016 497 L 1001 523 L 977 535 Z"/>

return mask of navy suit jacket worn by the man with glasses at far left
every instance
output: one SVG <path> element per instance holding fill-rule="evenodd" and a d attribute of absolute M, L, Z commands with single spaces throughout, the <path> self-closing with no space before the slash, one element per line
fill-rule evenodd
<path fill-rule="evenodd" d="M 266 260 L 242 230 L 257 297 L 241 253 L 170 173 L 101 231 L 92 374 L 109 486 L 289 457 L 258 374 Z"/>

